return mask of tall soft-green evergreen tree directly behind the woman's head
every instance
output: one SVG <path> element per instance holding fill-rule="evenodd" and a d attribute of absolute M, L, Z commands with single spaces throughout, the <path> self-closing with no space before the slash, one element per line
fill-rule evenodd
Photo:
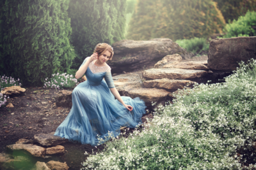
<path fill-rule="evenodd" d="M 124 39 L 125 8 L 126 1 L 120 0 L 70 0 L 71 41 L 77 53 L 73 68 L 92 55 L 97 43 Z"/>

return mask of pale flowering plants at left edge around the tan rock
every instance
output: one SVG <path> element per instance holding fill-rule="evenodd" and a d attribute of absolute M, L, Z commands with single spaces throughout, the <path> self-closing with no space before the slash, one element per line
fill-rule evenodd
<path fill-rule="evenodd" d="M 5 88 L 5 87 L 11 87 L 11 86 L 21 86 L 21 83 L 19 82 L 20 79 L 18 78 L 18 80 L 15 80 L 14 78 L 12 78 L 11 76 L 1 76 L 0 75 L 0 92 Z M 9 98 L 9 97 L 8 97 Z M 0 93 L 0 108 L 1 106 L 4 106 L 4 104 L 6 103 L 6 96 Z"/>

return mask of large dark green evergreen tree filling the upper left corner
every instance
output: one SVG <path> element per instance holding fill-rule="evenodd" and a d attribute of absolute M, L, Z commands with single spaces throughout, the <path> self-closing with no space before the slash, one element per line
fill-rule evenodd
<path fill-rule="evenodd" d="M 52 73 L 67 71 L 74 58 L 69 43 L 69 0 L 2 0 L 1 3 L 3 73 L 19 77 L 24 85 L 42 85 L 44 78 Z"/>

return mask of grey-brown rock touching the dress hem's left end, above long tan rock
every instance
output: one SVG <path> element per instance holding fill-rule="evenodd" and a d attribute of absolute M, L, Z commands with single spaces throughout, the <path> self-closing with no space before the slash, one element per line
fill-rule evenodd
<path fill-rule="evenodd" d="M 34 139 L 43 146 L 56 146 L 68 141 L 68 139 L 60 138 L 60 136 L 54 136 L 54 132 L 49 134 L 35 134 Z"/>

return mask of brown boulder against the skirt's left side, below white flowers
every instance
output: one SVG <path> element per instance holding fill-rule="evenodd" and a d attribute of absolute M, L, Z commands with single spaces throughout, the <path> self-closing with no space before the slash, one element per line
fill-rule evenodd
<path fill-rule="evenodd" d="M 56 97 L 56 106 L 72 107 L 72 91 L 61 90 Z"/>

